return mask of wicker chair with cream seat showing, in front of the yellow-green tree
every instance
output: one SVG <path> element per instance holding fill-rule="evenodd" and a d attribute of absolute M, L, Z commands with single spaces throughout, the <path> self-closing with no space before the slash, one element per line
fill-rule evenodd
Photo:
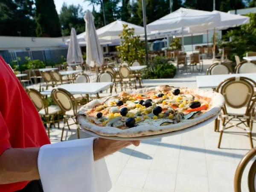
<path fill-rule="evenodd" d="M 137 89 L 136 77 L 132 76 L 132 72 L 129 67 L 127 66 L 119 67 L 118 73 L 120 75 L 120 78 L 122 79 L 123 84 L 125 85 L 125 90 L 127 88 L 127 83 L 130 85 L 130 88 L 131 88 L 131 83 L 134 83 L 134 87 L 135 89 Z"/>

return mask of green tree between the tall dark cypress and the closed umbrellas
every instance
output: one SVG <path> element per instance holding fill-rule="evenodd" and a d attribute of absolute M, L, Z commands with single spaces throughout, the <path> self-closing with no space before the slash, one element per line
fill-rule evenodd
<path fill-rule="evenodd" d="M 84 11 L 80 5 L 75 6 L 72 4 L 70 6 L 67 6 L 66 3 L 63 3 L 59 15 L 62 35 L 70 35 L 72 27 L 76 29 L 77 34 L 84 32 L 85 23 L 83 17 Z"/>

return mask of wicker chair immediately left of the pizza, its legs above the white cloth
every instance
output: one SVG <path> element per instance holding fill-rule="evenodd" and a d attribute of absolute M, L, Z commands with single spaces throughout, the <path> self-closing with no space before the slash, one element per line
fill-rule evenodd
<path fill-rule="evenodd" d="M 61 141 L 63 139 L 64 134 L 64 128 L 67 123 L 67 127 L 70 130 L 70 125 L 76 125 L 77 130 L 77 137 L 80 139 L 79 134 L 79 124 L 76 120 L 76 113 L 79 111 L 79 109 L 82 107 L 82 105 L 77 105 L 76 99 L 73 97 L 71 93 L 69 93 L 67 90 L 61 89 L 61 88 L 55 88 L 52 90 L 52 98 L 55 103 L 61 108 L 62 114 L 63 114 L 63 128 L 61 133 Z M 68 120 L 73 119 L 74 123 L 69 124 Z"/>

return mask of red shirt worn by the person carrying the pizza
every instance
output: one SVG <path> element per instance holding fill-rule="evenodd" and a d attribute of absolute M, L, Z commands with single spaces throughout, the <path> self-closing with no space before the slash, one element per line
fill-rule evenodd
<path fill-rule="evenodd" d="M 0 56 L 0 155 L 11 147 L 41 147 L 49 143 L 38 111 Z M 23 189 L 28 182 L 0 185 L 0 192 Z"/>

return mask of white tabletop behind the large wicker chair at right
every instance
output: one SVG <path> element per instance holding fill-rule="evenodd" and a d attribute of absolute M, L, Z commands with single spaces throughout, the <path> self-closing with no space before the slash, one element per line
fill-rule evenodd
<path fill-rule="evenodd" d="M 198 88 L 217 88 L 218 85 L 230 77 L 247 77 L 256 81 L 256 73 L 239 73 L 227 75 L 196 76 Z"/>

